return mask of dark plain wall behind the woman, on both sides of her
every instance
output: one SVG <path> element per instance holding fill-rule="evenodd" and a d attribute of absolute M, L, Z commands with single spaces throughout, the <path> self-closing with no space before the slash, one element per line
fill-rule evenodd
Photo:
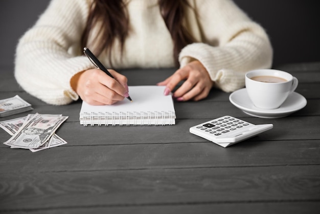
<path fill-rule="evenodd" d="M 320 16 L 316 1 L 235 2 L 268 33 L 274 50 L 273 67 L 286 63 L 319 61 L 320 30 L 317 30 L 317 20 Z M 13 69 L 18 38 L 33 26 L 48 4 L 49 0 L 0 0 L 2 67 Z"/>

